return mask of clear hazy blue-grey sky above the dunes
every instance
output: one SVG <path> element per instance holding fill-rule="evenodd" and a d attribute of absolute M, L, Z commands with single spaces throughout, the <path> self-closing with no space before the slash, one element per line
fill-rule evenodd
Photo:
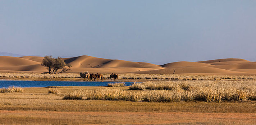
<path fill-rule="evenodd" d="M 256 61 L 256 0 L 0 0 L 0 51 Z"/>

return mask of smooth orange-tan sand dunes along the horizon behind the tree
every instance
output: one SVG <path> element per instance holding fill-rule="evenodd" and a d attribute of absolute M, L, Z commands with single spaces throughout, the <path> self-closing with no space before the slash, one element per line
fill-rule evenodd
<path fill-rule="evenodd" d="M 46 72 L 47 69 L 41 66 L 43 59 L 44 57 L 39 56 L 0 56 L 0 72 Z M 69 73 L 88 71 L 136 74 L 256 75 L 256 62 L 233 58 L 198 62 L 180 61 L 164 65 L 92 56 L 70 57 L 64 60 L 72 65 Z"/>

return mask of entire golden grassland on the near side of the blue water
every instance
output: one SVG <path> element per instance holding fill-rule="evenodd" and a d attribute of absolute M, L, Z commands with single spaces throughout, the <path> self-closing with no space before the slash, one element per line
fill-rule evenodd
<path fill-rule="evenodd" d="M 253 125 L 256 122 L 256 101 L 249 95 L 254 92 L 255 96 L 255 82 L 177 80 L 147 81 L 124 87 L 29 87 L 23 88 L 23 92 L 0 93 L 0 124 Z M 142 89 L 134 89 L 136 86 L 142 86 Z M 59 94 L 48 94 L 49 90 L 58 91 Z M 164 101 L 164 96 L 160 96 L 172 92 L 178 96 L 187 92 L 193 95 L 193 92 L 200 91 L 211 95 L 218 90 L 229 92 L 230 99 L 221 96 L 221 101 L 212 98 L 207 102 L 206 98 L 183 100 L 180 97 L 180 100 Z M 76 95 L 74 93 L 79 91 L 83 92 L 80 93 L 83 95 L 81 99 L 64 99 L 65 95 Z M 245 92 L 246 96 L 233 99 L 233 96 L 238 97 L 237 91 Z M 130 94 L 128 96 L 142 95 L 141 100 L 119 99 L 124 97 L 123 92 Z"/>

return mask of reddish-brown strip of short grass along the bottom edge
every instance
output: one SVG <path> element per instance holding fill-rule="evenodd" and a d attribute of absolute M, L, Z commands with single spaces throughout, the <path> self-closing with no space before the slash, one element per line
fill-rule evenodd
<path fill-rule="evenodd" d="M 255 125 L 253 113 L 0 111 L 1 124 Z"/>

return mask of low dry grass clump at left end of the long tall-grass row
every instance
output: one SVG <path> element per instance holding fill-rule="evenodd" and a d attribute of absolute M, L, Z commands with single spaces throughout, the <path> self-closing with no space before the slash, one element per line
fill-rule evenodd
<path fill-rule="evenodd" d="M 69 91 L 66 94 L 64 94 L 63 97 L 64 99 L 81 100 L 85 93 L 85 90 L 75 90 L 73 92 Z"/>

